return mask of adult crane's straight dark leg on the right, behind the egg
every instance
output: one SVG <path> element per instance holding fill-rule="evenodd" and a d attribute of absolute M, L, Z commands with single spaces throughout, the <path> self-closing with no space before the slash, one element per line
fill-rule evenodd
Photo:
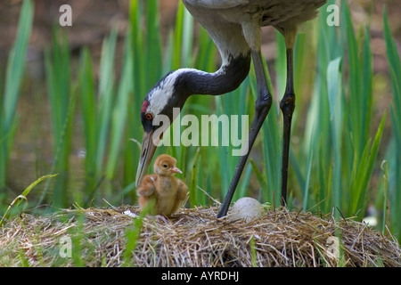
<path fill-rule="evenodd" d="M 281 204 L 287 204 L 288 160 L 290 153 L 291 121 L 295 109 L 295 93 L 293 80 L 293 49 L 287 48 L 287 84 L 280 102 L 283 118 L 282 136 L 282 195 Z"/>

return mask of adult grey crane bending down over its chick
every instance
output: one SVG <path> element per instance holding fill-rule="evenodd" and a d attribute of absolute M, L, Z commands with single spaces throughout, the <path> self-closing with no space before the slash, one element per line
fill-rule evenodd
<path fill-rule="evenodd" d="M 136 185 L 139 185 L 151 162 L 159 135 L 168 126 L 155 123 L 159 115 L 173 118 L 173 108 L 184 106 L 192 94 L 220 95 L 233 91 L 247 77 L 252 59 L 258 97 L 255 102 L 255 117 L 250 125 L 248 152 L 243 153 L 235 168 L 233 180 L 218 211 L 217 217 L 225 216 L 233 193 L 240 181 L 242 170 L 250 155 L 250 150 L 257 138 L 272 105 L 272 96 L 266 83 L 261 54 L 261 27 L 273 26 L 285 39 L 287 49 L 287 83 L 280 102 L 283 116 L 282 147 L 282 189 L 281 202 L 286 204 L 288 160 L 291 136 L 291 118 L 295 108 L 293 83 L 293 48 L 300 23 L 311 20 L 316 10 L 326 0 L 182 0 L 186 9 L 208 31 L 222 58 L 222 65 L 214 73 L 197 69 L 177 69 L 169 72 L 146 94 L 141 110 L 143 124 L 143 144 Z M 160 129 L 160 127 L 162 129 Z M 160 133 L 161 131 L 161 133 Z"/>

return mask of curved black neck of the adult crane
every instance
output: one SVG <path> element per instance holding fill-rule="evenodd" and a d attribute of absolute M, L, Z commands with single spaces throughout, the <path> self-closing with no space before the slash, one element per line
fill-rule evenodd
<path fill-rule="evenodd" d="M 198 69 L 178 69 L 176 92 L 183 96 L 192 94 L 221 95 L 229 93 L 248 76 L 250 72 L 250 53 L 240 53 L 235 57 L 225 57 L 223 65 L 214 73 Z"/>

